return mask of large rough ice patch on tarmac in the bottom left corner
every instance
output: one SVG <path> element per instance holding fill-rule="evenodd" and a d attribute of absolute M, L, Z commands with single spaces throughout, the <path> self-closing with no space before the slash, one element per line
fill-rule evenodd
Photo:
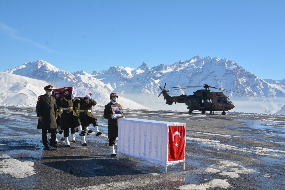
<path fill-rule="evenodd" d="M 16 179 L 36 174 L 32 167 L 34 162 L 21 162 L 7 154 L 0 155 L 0 159 L 0 174 L 12 175 Z"/>

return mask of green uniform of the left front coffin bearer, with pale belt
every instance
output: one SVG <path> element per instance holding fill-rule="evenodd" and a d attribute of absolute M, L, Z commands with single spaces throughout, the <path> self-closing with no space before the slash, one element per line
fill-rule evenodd
<path fill-rule="evenodd" d="M 61 97 L 60 102 L 63 109 L 60 126 L 64 126 L 64 137 L 68 137 L 69 128 L 73 126 L 77 127 L 81 125 L 81 123 L 78 114 L 76 113 L 76 111 L 73 110 L 73 104 L 75 100 L 70 96 L 64 94 Z M 64 110 L 64 108 L 69 109 Z"/>

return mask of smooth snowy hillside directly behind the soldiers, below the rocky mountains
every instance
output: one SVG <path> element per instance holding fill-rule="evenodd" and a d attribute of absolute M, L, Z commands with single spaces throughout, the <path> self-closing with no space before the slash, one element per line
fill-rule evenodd
<path fill-rule="evenodd" d="M 0 105 L 1 106 L 35 106 L 38 96 L 44 94 L 43 88 L 53 85 L 43 80 L 32 79 L 11 73 L 0 72 Z M 54 86 L 58 88 L 58 86 Z M 98 105 L 110 102 L 109 93 L 94 90 L 91 95 Z M 148 109 L 132 100 L 120 97 L 118 103 L 124 108 Z"/>

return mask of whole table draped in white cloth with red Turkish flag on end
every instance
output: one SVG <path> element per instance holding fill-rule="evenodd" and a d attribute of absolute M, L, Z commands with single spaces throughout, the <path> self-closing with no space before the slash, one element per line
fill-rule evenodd
<path fill-rule="evenodd" d="M 186 123 L 148 119 L 118 119 L 118 156 L 143 158 L 165 167 L 183 162 L 185 170 Z"/>

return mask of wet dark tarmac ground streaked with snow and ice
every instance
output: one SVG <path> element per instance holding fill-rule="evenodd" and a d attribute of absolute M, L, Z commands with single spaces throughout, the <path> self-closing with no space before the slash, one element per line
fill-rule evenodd
<path fill-rule="evenodd" d="M 186 167 L 109 157 L 103 135 L 43 150 L 35 108 L 0 107 L 0 189 L 285 189 L 285 118 L 125 110 L 128 118 L 186 122 Z M 93 127 L 91 127 L 93 128 Z M 115 146 L 116 147 L 116 146 Z M 117 148 L 117 147 L 116 147 Z"/>

